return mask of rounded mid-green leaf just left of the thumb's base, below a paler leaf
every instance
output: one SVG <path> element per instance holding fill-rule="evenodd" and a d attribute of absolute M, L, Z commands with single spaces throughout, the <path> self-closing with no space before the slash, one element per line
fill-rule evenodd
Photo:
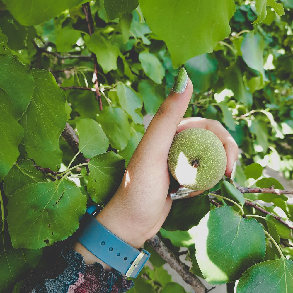
<path fill-rule="evenodd" d="M 105 107 L 98 114 L 97 121 L 102 126 L 113 148 L 123 150 L 130 140 L 128 115 L 117 107 Z"/>

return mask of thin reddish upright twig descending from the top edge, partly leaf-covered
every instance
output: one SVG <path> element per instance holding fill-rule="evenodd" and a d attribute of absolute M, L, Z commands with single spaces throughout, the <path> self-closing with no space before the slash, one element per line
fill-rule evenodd
<path fill-rule="evenodd" d="M 93 25 L 93 16 L 91 14 L 90 3 L 87 2 L 86 4 L 82 4 L 82 9 L 83 9 L 84 15 L 86 17 L 86 22 L 88 24 L 88 32 L 89 32 L 89 35 L 91 36 L 94 32 L 94 25 Z M 93 61 L 94 61 L 93 81 L 94 81 L 94 85 L 95 85 L 95 89 L 96 89 L 96 100 L 99 102 L 100 110 L 103 110 L 101 93 L 100 93 L 99 84 L 98 84 L 98 62 L 97 62 L 96 54 L 93 53 L 92 57 L 93 57 Z"/>

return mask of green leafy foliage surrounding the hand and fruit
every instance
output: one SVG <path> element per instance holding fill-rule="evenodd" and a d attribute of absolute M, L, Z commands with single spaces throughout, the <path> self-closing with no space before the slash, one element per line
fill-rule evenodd
<path fill-rule="evenodd" d="M 219 120 L 232 134 L 237 183 L 282 189 L 266 166 L 293 175 L 291 0 L 96 0 L 90 34 L 83 3 L 0 2 L 0 292 L 18 292 L 42 249 L 72 235 L 87 205 L 108 202 L 143 116 L 156 113 L 182 65 L 194 86 L 185 117 Z M 61 136 L 67 122 L 77 154 Z M 237 292 L 259 292 L 260 280 L 266 292 L 279 280 L 278 292 L 292 287 L 292 247 L 278 245 L 292 241 L 290 229 L 258 211 L 241 217 L 254 213 L 245 200 L 262 200 L 292 221 L 287 197 L 243 197 L 228 181 L 213 190 L 224 207 L 207 194 L 174 202 L 160 234 L 166 245 L 186 247 L 190 270 L 211 283 L 240 278 Z M 151 253 L 154 269 L 142 270 L 132 292 L 185 292 Z"/>

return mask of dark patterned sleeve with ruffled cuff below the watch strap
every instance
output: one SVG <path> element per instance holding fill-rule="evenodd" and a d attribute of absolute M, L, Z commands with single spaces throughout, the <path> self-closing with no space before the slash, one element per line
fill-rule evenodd
<path fill-rule="evenodd" d="M 83 256 L 67 246 L 52 269 L 35 268 L 20 293 L 120 293 L 133 285 L 116 270 L 106 272 L 100 263 L 86 265 Z"/>

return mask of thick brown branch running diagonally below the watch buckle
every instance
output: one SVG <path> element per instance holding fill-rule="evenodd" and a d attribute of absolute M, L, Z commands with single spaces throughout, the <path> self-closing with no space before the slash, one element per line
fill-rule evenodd
<path fill-rule="evenodd" d="M 182 263 L 179 258 L 177 258 L 174 253 L 165 246 L 163 241 L 161 241 L 157 235 L 151 237 L 151 239 L 147 240 L 147 242 L 151 245 L 154 251 L 166 260 L 171 268 L 178 272 L 187 284 L 191 285 L 196 293 L 206 293 L 208 291 L 200 279 L 189 271 L 188 265 Z"/>

